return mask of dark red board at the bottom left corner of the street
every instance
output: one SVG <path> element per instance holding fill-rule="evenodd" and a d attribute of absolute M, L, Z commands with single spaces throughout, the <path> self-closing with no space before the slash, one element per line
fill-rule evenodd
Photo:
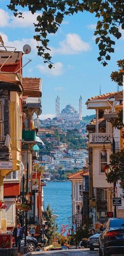
<path fill-rule="evenodd" d="M 0 248 L 12 248 L 12 235 L 0 234 Z"/>

